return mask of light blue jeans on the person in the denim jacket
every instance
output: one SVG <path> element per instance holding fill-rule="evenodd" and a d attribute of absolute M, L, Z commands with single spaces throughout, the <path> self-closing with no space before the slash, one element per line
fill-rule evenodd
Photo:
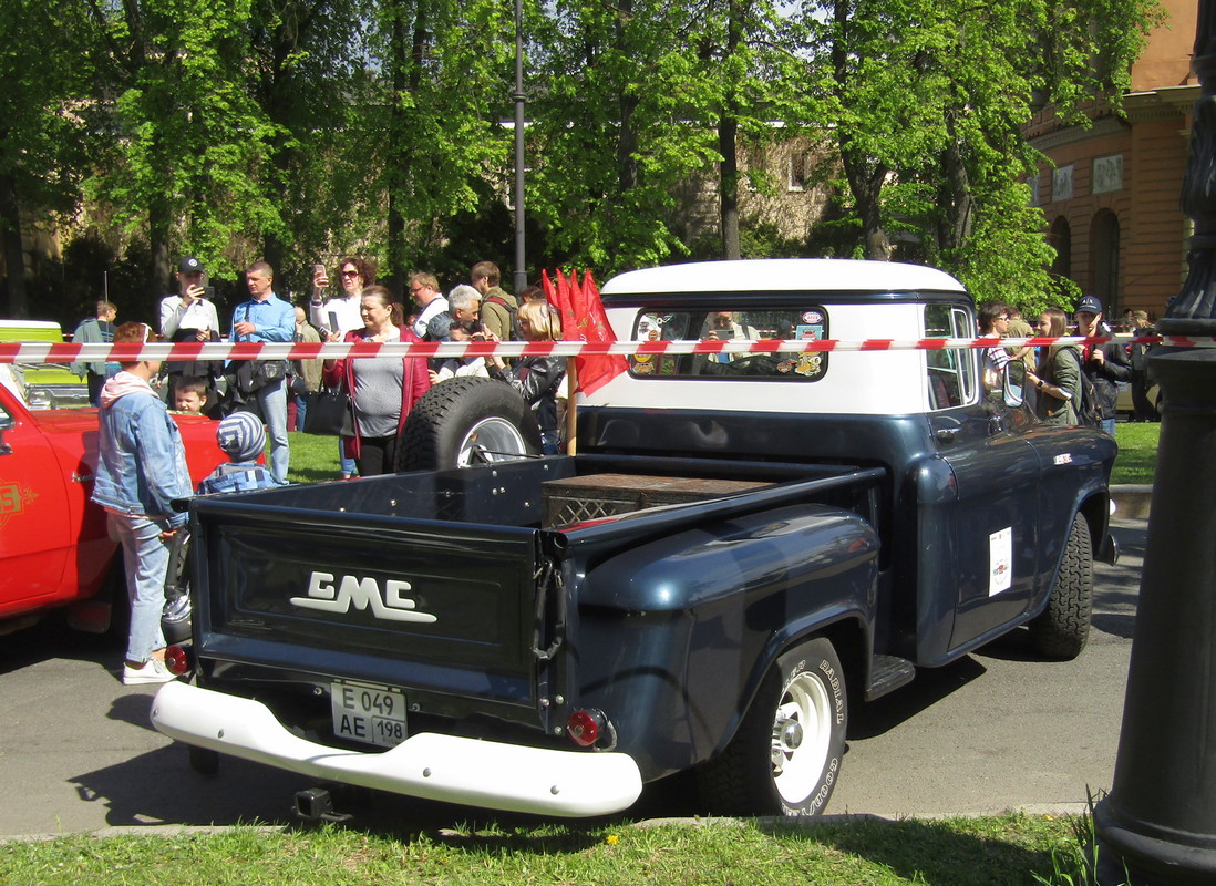
<path fill-rule="evenodd" d="M 146 517 L 106 512 L 109 535 L 123 546 L 126 596 L 131 600 L 131 628 L 126 637 L 126 660 L 147 661 L 164 649 L 161 613 L 164 610 L 164 580 L 169 571 L 169 546 L 161 540 L 161 524 Z M 178 530 L 184 532 L 184 529 Z"/>

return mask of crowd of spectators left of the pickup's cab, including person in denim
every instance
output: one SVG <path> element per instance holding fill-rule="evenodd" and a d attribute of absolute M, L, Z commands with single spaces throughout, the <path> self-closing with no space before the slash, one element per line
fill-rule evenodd
<path fill-rule="evenodd" d="M 145 323 L 114 325 L 118 309 L 100 301 L 96 316 L 73 335 L 81 343 L 145 343 L 156 338 L 219 342 L 219 311 L 207 271 L 192 256 L 176 271 L 178 292 L 161 300 L 161 332 Z M 361 258 L 338 264 L 340 292 L 330 294 L 323 265 L 313 269 L 308 309 L 275 292 L 275 272 L 265 261 L 246 269 L 249 298 L 236 305 L 229 340 L 289 342 L 466 342 L 557 340 L 558 312 L 535 287 L 517 297 L 500 286 L 497 266 L 473 266 L 469 283 L 444 297 L 432 273 L 410 277 L 416 310 L 376 283 L 375 266 Z M 123 548 L 131 622 L 123 683 L 164 683 L 174 678 L 164 662 L 163 616 L 182 599 L 167 598 L 170 551 L 181 543 L 186 515 L 174 502 L 191 495 L 248 491 L 286 485 L 288 431 L 308 423 L 309 395 L 322 388 L 349 396 L 351 425 L 339 436 L 343 479 L 394 469 L 396 440 L 411 408 L 434 384 L 463 376 L 495 377 L 533 406 L 546 455 L 558 451 L 557 399 L 565 374 L 563 357 L 525 357 L 508 365 L 499 357 L 428 361 L 420 356 L 295 361 L 153 360 L 75 365 L 88 378 L 90 401 L 100 407 L 100 455 L 92 498 L 107 514 L 111 535 Z M 159 390 L 158 390 L 159 389 Z M 209 416 L 216 442 L 231 461 L 191 489 L 181 434 L 170 412 Z M 269 465 L 258 461 L 270 440 Z M 171 583 L 171 582 L 169 582 Z M 187 610 L 188 611 L 188 610 Z"/>

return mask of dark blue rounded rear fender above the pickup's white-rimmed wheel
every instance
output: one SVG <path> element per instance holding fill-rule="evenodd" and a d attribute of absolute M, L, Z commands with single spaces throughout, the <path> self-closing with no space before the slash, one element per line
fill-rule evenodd
<path fill-rule="evenodd" d="M 771 661 L 877 605 L 879 540 L 807 504 L 714 521 L 597 565 L 578 597 L 579 704 L 604 711 L 647 780 L 730 740 Z"/>

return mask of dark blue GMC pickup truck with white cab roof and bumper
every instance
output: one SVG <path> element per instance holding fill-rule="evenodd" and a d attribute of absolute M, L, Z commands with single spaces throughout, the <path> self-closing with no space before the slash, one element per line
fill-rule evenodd
<path fill-rule="evenodd" d="M 885 263 L 603 300 L 625 340 L 975 331 L 956 280 Z M 981 357 L 640 354 L 580 399 L 576 456 L 195 500 L 192 670 L 153 722 L 199 768 L 488 808 L 608 813 L 693 771 L 710 811 L 821 812 L 850 705 L 1023 626 L 1085 647 L 1115 444 L 1040 425 Z"/>

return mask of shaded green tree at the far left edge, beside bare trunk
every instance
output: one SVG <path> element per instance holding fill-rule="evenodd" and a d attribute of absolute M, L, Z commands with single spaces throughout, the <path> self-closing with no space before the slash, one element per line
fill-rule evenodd
<path fill-rule="evenodd" d="M 22 232 L 69 216 L 88 170 L 86 21 L 78 0 L 0 4 L 0 255 L 16 317 L 28 314 Z"/>

